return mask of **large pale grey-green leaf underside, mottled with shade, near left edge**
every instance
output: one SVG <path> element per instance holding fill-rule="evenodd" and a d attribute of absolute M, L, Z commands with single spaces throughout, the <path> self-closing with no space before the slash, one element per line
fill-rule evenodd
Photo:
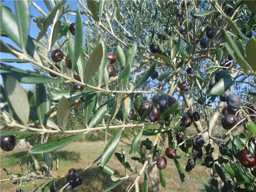
<path fill-rule="evenodd" d="M 20 118 L 22 123 L 27 125 L 30 108 L 24 88 L 17 79 L 7 76 L 5 80 L 5 91 L 14 112 Z"/>

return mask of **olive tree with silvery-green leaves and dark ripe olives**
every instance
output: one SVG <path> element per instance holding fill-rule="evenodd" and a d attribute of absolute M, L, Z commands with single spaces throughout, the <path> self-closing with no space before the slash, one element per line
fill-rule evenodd
<path fill-rule="evenodd" d="M 15 138 L 26 139 L 32 147 L 20 166 L 33 154 L 42 154 L 46 164 L 37 170 L 31 164 L 27 174 L 6 170 L 11 178 L 4 180 L 16 180 L 20 190 L 30 180 L 46 179 L 44 190 L 65 177 L 58 190 L 76 189 L 79 174 L 97 163 L 116 181 L 104 191 L 131 176 L 127 191 L 139 191 L 143 178 L 147 191 L 146 172 L 152 190 L 159 191 L 158 183 L 166 186 L 168 159 L 181 182 L 186 172 L 206 166 L 206 191 L 255 191 L 255 1 L 77 2 L 44 1 L 43 10 L 36 1 L 15 1 L 15 15 L 1 5 L 1 36 L 14 42 L 1 39 L 1 52 L 17 57 L 1 58 L 1 148 L 10 151 Z M 30 15 L 31 6 L 42 15 Z M 31 19 L 40 29 L 36 38 L 29 35 Z M 34 71 L 8 62 L 29 62 Z M 35 92 L 27 94 L 20 83 L 35 84 Z M 75 113 L 83 113 L 81 129 L 68 126 Z M 186 135 L 191 124 L 197 133 Z M 220 124 L 224 137 L 214 133 Z M 130 143 L 122 139 L 125 129 L 134 135 Z M 59 160 L 51 152 L 96 131 L 111 136 L 99 157 L 81 172 L 52 175 L 52 162 L 57 171 Z M 45 142 L 42 135 L 49 133 L 58 139 Z M 122 148 L 114 153 L 119 142 L 131 146 L 132 159 Z M 124 166 L 124 177 L 113 175 L 110 158 Z M 188 161 L 185 170 L 180 158 Z M 196 164 L 200 158 L 204 163 Z"/>

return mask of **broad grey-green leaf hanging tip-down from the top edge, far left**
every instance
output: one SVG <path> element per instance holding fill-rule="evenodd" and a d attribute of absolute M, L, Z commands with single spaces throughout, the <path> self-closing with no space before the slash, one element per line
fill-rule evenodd
<path fill-rule="evenodd" d="M 20 44 L 23 50 L 26 49 L 30 25 L 29 1 L 14 1 L 16 21 L 20 34 Z"/>

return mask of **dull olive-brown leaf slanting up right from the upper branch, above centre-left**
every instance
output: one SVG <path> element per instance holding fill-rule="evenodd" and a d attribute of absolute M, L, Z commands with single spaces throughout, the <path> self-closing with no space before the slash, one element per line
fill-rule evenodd
<path fill-rule="evenodd" d="M 85 83 L 87 83 L 91 79 L 91 77 L 99 68 L 102 57 L 103 57 L 103 46 L 100 43 L 94 48 L 92 54 L 90 55 L 90 59 L 87 62 L 86 70 L 85 70 L 86 71 L 85 79 L 84 79 Z"/>

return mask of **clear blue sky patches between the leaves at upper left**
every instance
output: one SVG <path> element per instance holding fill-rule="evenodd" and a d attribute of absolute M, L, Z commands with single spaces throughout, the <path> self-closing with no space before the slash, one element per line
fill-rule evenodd
<path fill-rule="evenodd" d="M 41 7 L 41 9 L 46 13 L 49 14 L 48 9 L 46 8 L 44 1 L 34 1 L 39 7 Z M 50 2 L 50 1 L 49 1 Z M 11 8 L 12 12 L 15 14 L 15 8 L 14 8 L 14 1 L 3 1 L 1 2 L 3 5 L 6 5 L 8 7 Z M 76 10 L 76 7 L 78 5 L 77 1 L 67 1 L 66 4 L 72 3 L 72 9 L 71 10 Z M 51 4 L 51 3 L 50 3 Z M 52 6 L 53 8 L 53 6 Z M 30 5 L 30 15 L 34 15 L 34 16 L 39 16 L 42 15 L 42 13 L 40 13 L 33 5 Z M 35 18 L 35 17 L 33 17 Z M 36 39 L 38 33 L 39 33 L 39 28 L 36 26 L 36 24 L 33 21 L 33 18 L 30 19 L 30 28 L 29 28 L 29 35 L 33 38 Z M 75 16 L 69 15 L 70 21 L 71 22 L 75 22 Z M 1 41 L 4 41 L 6 43 L 9 43 L 17 48 L 19 48 L 12 40 L 10 40 L 7 37 L 1 37 Z M 10 53 L 0 53 L 0 58 L 2 59 L 16 59 L 15 56 L 13 56 Z M 23 70 L 33 70 L 33 67 L 30 63 L 7 63 L 8 65 L 23 69 Z M 2 80 L 2 76 L 0 79 L 0 83 L 3 83 Z M 22 86 L 24 86 L 25 88 L 29 88 L 32 86 L 32 84 L 22 84 Z"/>

